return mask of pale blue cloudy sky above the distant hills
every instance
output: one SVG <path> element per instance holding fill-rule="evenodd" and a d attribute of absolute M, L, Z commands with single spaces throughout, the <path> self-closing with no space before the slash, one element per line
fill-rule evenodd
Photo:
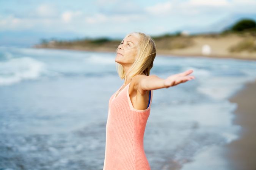
<path fill-rule="evenodd" d="M 256 20 L 256 0 L 0 0 L 0 46 L 41 39 L 220 32 L 241 18 Z"/>

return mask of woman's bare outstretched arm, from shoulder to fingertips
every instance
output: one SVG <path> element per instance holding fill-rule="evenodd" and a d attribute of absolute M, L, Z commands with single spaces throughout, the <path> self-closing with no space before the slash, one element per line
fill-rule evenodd
<path fill-rule="evenodd" d="M 160 88 L 169 88 L 171 86 L 178 85 L 179 83 L 187 82 L 188 80 L 195 79 L 194 76 L 189 74 L 193 73 L 193 70 L 187 70 L 182 73 L 173 74 L 166 79 L 161 79 L 156 75 L 137 75 L 135 76 L 134 88 L 139 91 L 156 90 Z"/>

